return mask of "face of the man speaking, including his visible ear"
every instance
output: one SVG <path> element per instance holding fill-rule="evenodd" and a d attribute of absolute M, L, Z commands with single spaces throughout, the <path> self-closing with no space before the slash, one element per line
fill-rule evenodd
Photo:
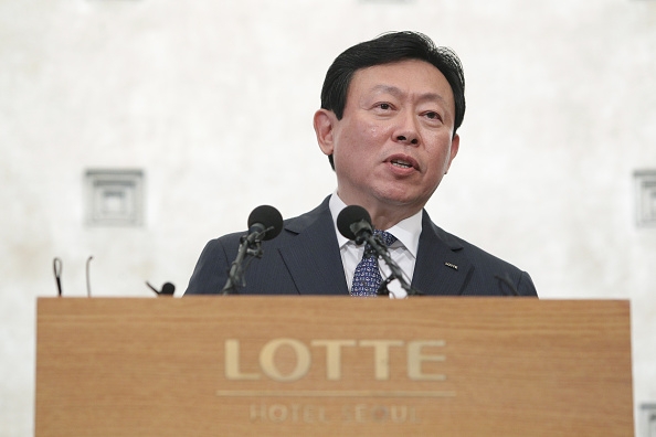
<path fill-rule="evenodd" d="M 357 71 L 343 117 L 315 115 L 319 146 L 334 154 L 339 196 L 372 214 L 420 211 L 457 153 L 454 115 L 448 82 L 426 62 Z"/>

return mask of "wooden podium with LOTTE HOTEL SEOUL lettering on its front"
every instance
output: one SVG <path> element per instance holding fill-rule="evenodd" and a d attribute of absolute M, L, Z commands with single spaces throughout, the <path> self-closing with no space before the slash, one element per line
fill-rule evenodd
<path fill-rule="evenodd" d="M 627 301 L 40 298 L 35 435 L 633 437 Z"/>

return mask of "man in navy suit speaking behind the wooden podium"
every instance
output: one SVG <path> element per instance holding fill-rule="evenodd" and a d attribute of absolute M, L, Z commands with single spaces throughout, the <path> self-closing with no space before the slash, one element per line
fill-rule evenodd
<path fill-rule="evenodd" d="M 423 210 L 457 154 L 464 114 L 458 57 L 423 34 L 388 33 L 340 54 L 328 70 L 314 117 L 337 190 L 263 243 L 264 256 L 248 264 L 239 291 L 362 295 L 369 280 L 362 271 L 372 271 L 362 267 L 369 252 L 336 226 L 343 207 L 360 205 L 377 230 L 390 234 L 390 256 L 414 289 L 442 296 L 537 296 L 527 273 L 444 232 Z M 187 295 L 221 292 L 242 235 L 208 243 Z M 373 270 L 380 280 L 379 267 Z M 383 263 L 380 274 L 390 275 Z M 389 290 L 392 297 L 406 296 L 399 281 Z"/>

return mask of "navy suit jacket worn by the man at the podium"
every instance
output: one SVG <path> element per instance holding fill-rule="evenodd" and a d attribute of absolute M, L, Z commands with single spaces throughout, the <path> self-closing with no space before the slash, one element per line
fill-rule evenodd
<path fill-rule="evenodd" d="M 327 198 L 315 210 L 285 221 L 281 235 L 262 243 L 243 295 L 343 295 L 348 286 Z M 219 294 L 244 233 L 210 241 L 186 295 Z M 437 227 L 424 211 L 412 287 L 435 296 L 537 296 L 526 271 Z"/>

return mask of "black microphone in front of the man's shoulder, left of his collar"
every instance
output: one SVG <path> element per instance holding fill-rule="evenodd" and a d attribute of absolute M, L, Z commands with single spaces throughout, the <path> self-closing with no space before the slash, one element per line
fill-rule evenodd
<path fill-rule="evenodd" d="M 228 280 L 221 290 L 222 295 L 233 295 L 237 292 L 237 287 L 244 287 L 246 281 L 243 277 L 245 273 L 244 260 L 251 256 L 262 258 L 262 242 L 278 236 L 283 231 L 283 216 L 279 211 L 269 205 L 257 206 L 248 215 L 248 232 L 242 236 L 240 249 L 235 260 L 230 266 Z"/>

